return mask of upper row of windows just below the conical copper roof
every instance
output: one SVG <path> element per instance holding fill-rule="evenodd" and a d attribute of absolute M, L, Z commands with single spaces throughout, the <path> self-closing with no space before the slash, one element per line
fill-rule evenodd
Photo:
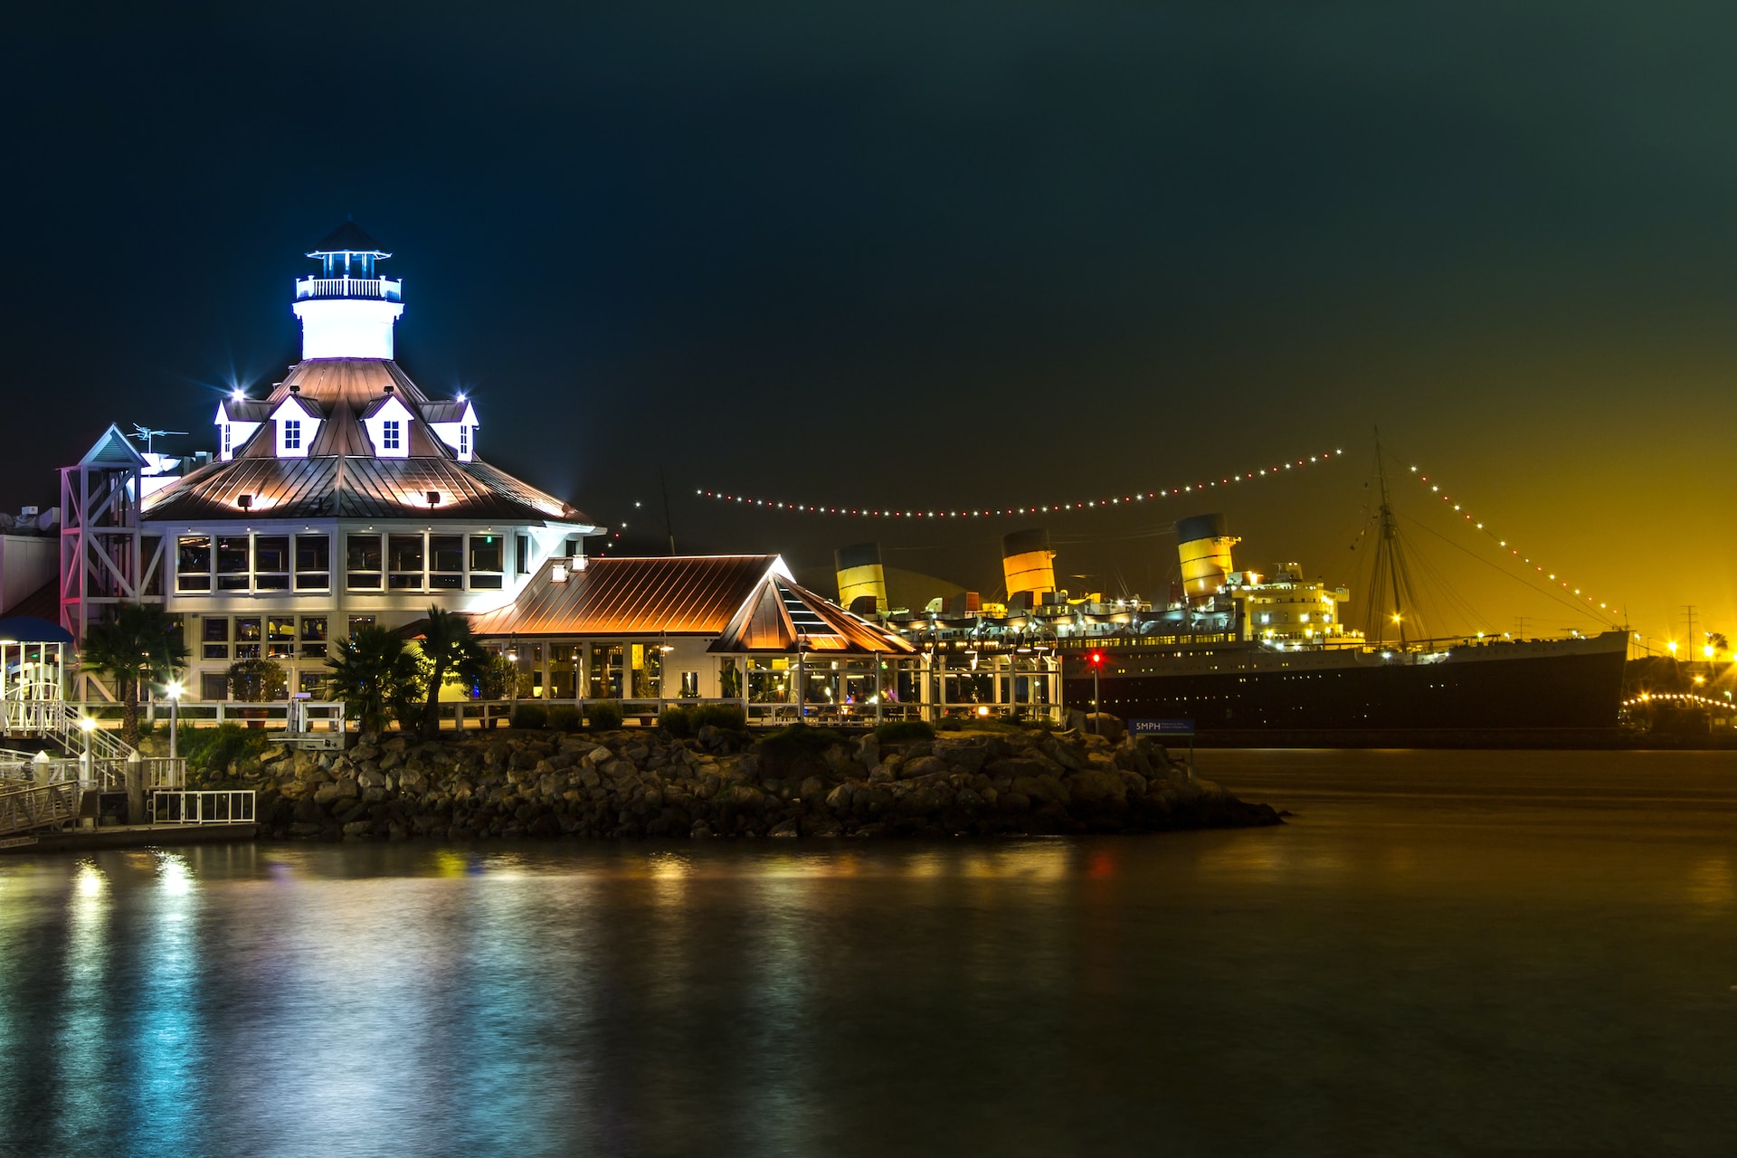
<path fill-rule="evenodd" d="M 518 575 L 530 573 L 530 536 L 514 536 Z M 500 590 L 502 535 L 346 535 L 349 590 Z M 182 535 L 175 540 L 175 590 L 330 590 L 330 535 Z"/>

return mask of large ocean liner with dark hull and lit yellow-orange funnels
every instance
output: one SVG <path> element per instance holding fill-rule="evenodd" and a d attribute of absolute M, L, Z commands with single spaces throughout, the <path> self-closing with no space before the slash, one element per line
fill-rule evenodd
<path fill-rule="evenodd" d="M 1487 733 L 1614 729 L 1628 632 L 1419 639 L 1395 514 L 1381 483 L 1364 627 L 1350 590 L 1299 568 L 1238 571 L 1225 517 L 1176 523 L 1181 582 L 1166 604 L 1054 590 L 1044 531 L 1004 540 L 1006 604 L 935 601 L 893 613 L 919 646 L 1053 649 L 1068 708 L 1193 720 L 1200 733 Z M 842 556 L 842 552 L 841 552 Z M 842 563 L 841 563 L 842 576 Z M 961 602 L 961 601 L 955 601 Z"/>

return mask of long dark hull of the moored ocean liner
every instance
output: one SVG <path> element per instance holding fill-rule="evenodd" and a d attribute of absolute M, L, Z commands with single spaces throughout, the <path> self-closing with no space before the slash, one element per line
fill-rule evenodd
<path fill-rule="evenodd" d="M 1457 648 L 1435 661 L 1367 651 L 1103 649 L 1101 710 L 1192 719 L 1200 733 L 1405 733 L 1617 726 L 1628 639 Z M 1068 665 L 1070 707 L 1093 703 L 1091 670 Z"/>

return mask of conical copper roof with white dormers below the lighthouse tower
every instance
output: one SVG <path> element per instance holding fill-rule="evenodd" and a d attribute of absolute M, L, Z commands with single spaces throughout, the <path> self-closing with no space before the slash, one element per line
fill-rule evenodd
<path fill-rule="evenodd" d="M 406 458 L 377 458 L 360 413 L 398 398 L 412 413 Z M 229 462 L 214 462 L 146 497 L 156 523 L 200 519 L 467 519 L 591 523 L 554 495 L 486 462 L 460 462 L 420 418 L 427 396 L 396 363 L 380 358 L 318 358 L 299 363 L 262 403 L 269 415 L 285 399 L 323 417 L 306 458 L 278 458 L 276 436 L 262 425 Z M 229 413 L 236 413 L 236 403 Z M 427 505 L 438 491 L 439 503 Z M 252 495 L 241 509 L 236 500 Z"/>

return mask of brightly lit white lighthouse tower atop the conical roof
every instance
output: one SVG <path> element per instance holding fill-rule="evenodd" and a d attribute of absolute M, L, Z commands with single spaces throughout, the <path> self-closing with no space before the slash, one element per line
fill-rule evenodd
<path fill-rule="evenodd" d="M 391 358 L 393 323 L 405 313 L 405 283 L 375 271 L 375 262 L 391 253 L 346 220 L 307 257 L 320 262 L 320 273 L 295 283 L 302 358 Z"/>

